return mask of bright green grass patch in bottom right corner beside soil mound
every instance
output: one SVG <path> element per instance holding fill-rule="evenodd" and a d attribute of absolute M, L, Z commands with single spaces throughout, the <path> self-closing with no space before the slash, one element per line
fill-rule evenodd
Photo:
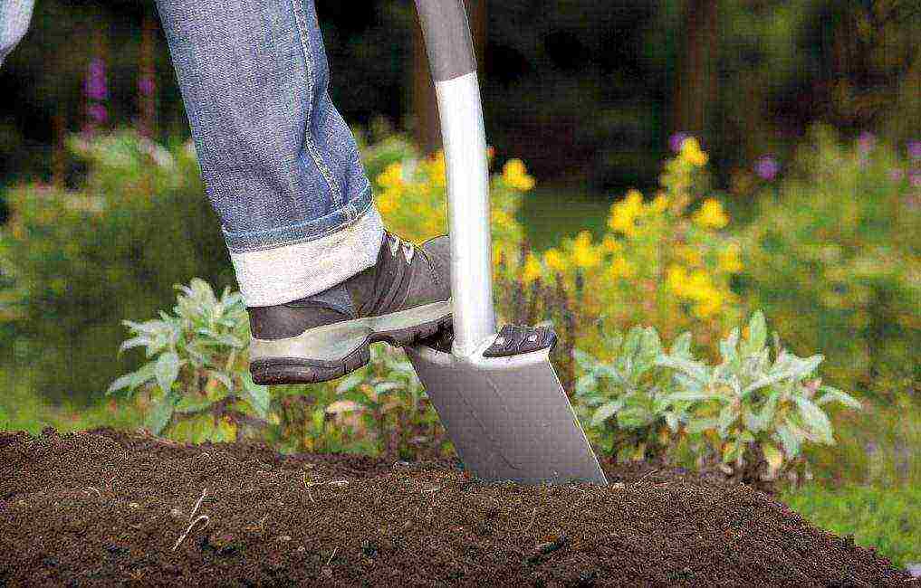
<path fill-rule="evenodd" d="M 813 484 L 781 500 L 813 525 L 852 535 L 857 545 L 876 548 L 896 566 L 921 562 L 921 486 L 828 489 Z"/>

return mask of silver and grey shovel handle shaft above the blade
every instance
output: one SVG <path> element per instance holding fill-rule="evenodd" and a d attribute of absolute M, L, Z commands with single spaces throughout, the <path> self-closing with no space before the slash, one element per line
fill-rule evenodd
<path fill-rule="evenodd" d="M 435 80 L 445 145 L 451 236 L 451 352 L 495 337 L 489 163 L 473 40 L 463 0 L 415 0 Z"/>

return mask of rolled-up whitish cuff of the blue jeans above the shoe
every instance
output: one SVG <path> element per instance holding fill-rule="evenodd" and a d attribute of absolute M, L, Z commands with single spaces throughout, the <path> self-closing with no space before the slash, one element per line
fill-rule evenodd
<path fill-rule="evenodd" d="M 377 263 L 384 225 L 378 209 L 338 230 L 282 247 L 230 252 L 246 306 L 275 306 L 318 294 Z"/>

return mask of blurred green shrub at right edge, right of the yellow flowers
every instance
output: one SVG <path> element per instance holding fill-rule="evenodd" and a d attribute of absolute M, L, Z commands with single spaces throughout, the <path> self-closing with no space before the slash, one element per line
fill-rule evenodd
<path fill-rule="evenodd" d="M 921 208 L 892 145 L 816 127 L 744 232 L 742 289 L 837 386 L 892 398 L 921 378 Z M 916 162 L 915 162 L 916 165 Z M 916 198 L 916 196 L 915 196 Z M 887 389 L 889 388 L 889 389 Z"/>

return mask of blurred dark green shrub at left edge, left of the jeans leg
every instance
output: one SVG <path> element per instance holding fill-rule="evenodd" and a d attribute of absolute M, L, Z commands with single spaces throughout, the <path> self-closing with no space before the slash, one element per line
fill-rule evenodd
<path fill-rule="evenodd" d="M 191 144 L 165 148 L 122 131 L 75 136 L 69 148 L 87 165 L 78 190 L 6 193 L 0 320 L 17 369 L 36 368 L 35 389 L 86 402 L 130 367 L 112 358 L 122 318 L 168 305 L 173 283 L 233 275 Z"/>

